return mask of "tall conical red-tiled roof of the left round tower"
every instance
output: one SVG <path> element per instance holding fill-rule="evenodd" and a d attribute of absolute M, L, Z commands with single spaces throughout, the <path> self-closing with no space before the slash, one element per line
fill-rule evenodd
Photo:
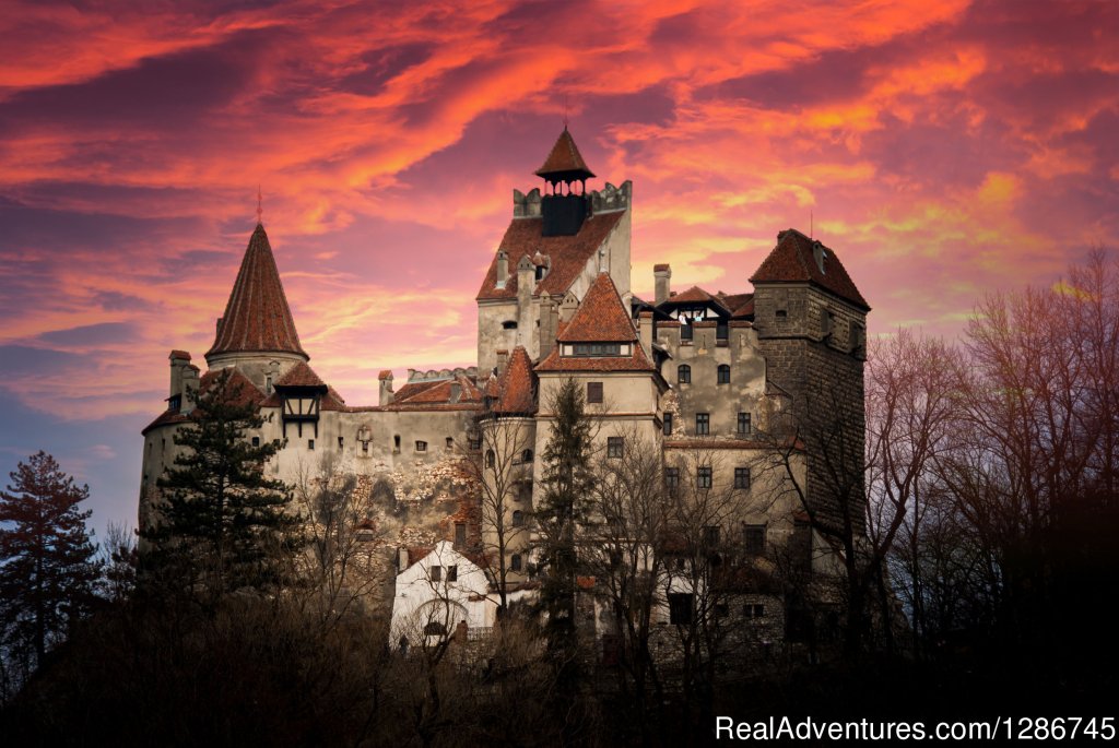
<path fill-rule="evenodd" d="M 299 344 L 295 321 L 280 283 L 280 271 L 261 224 L 248 239 L 229 302 L 217 325 L 214 345 L 206 356 L 255 351 L 298 353 L 308 358 Z"/>

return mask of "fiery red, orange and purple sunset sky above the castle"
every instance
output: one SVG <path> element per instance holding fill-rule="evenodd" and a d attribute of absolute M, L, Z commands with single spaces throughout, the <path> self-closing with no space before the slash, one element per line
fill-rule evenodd
<path fill-rule="evenodd" d="M 0 49 L 0 473 L 51 452 L 98 534 L 135 522 L 168 352 L 201 363 L 258 184 L 350 405 L 380 369 L 473 363 L 565 113 L 589 187 L 633 181 L 638 294 L 660 262 L 746 291 L 811 225 L 872 334 L 955 335 L 984 293 L 1119 249 L 1113 1 L 8 0 Z"/>

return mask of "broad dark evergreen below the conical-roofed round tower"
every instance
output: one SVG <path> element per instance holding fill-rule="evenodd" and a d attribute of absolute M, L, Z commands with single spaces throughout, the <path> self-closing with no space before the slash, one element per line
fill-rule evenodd
<path fill-rule="evenodd" d="M 246 437 L 264 423 L 246 390 L 232 369 L 204 388 L 191 422 L 175 435 L 186 449 L 158 482 L 156 527 L 141 532 L 154 546 L 149 566 L 215 597 L 282 584 L 302 545 L 291 489 L 264 476 L 281 443 L 254 446 Z"/>

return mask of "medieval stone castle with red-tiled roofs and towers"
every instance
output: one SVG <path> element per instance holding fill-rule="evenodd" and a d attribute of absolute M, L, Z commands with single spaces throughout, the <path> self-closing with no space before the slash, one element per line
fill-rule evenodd
<path fill-rule="evenodd" d="M 524 591 L 532 583 L 538 456 L 552 433 L 553 396 L 573 379 L 595 424 L 600 458 L 624 460 L 640 445 L 653 449 L 673 490 L 736 496 L 733 517 L 706 528 L 708 536 L 733 534 L 763 570 L 770 549 L 786 549 L 826 572 L 834 558 L 809 520 L 829 511 L 827 466 L 797 444 L 784 472 L 764 466 L 783 448 L 773 437 L 778 420 L 820 407 L 852 425 L 848 458 L 862 464 L 869 307 L 835 252 L 788 229 L 750 277 L 752 292 L 674 292 L 666 264 L 655 267 L 653 297 L 639 299 L 630 285 L 632 184 L 587 191 L 594 174 L 566 127 L 536 174 L 543 188 L 514 190 L 513 217 L 477 295 L 477 368 L 410 369 L 398 389 L 385 370 L 375 406 L 347 404 L 311 368 L 257 224 L 205 354 L 208 373 L 199 376 L 189 353 L 171 351 L 168 407 L 143 429 L 141 527 L 158 521 L 157 480 L 173 462 L 173 435 L 189 423 L 195 394 L 213 372 L 232 368 L 265 418 L 252 438 L 285 439 L 267 466 L 285 481 L 294 483 L 327 455 L 367 484 L 477 455 L 487 483 L 481 506 L 448 506 L 411 524 L 404 518 L 383 541 L 397 551 L 392 558 L 402 575 L 426 559 L 430 577 L 435 549 L 482 557 L 471 568 L 487 566 L 480 578 L 490 590 L 467 590 L 474 602 L 496 587 Z M 373 495 L 401 500 L 399 492 Z M 468 545 L 481 550 L 471 555 Z M 669 588 L 678 598 L 690 594 Z M 747 617 L 780 636 L 787 600 L 764 585 L 740 591 Z M 677 603 L 666 600 L 666 622 L 687 613 Z M 452 618 L 492 623 L 485 612 Z"/>

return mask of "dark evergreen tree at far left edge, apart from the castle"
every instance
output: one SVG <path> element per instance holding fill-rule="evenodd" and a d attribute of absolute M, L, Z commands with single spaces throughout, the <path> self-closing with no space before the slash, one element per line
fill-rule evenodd
<path fill-rule="evenodd" d="M 34 648 L 41 662 L 48 645 L 94 600 L 98 564 L 90 511 L 78 504 L 90 487 L 78 486 L 46 452 L 20 462 L 0 492 L 0 606 L 7 647 Z"/>

